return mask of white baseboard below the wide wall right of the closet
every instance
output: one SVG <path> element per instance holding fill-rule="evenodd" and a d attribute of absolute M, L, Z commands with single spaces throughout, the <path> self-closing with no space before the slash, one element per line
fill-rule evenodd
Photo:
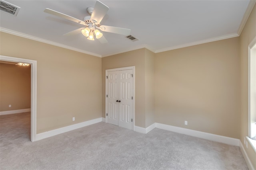
<path fill-rule="evenodd" d="M 212 133 L 205 133 L 205 132 L 195 131 L 195 130 L 186 129 L 186 128 L 182 128 L 182 127 L 165 125 L 165 124 L 162 124 L 162 123 L 155 123 L 155 124 L 156 124 L 156 128 L 159 128 L 159 129 L 164 129 L 164 130 L 167 130 L 167 131 L 172 131 L 172 132 L 181 133 L 181 134 L 184 134 L 184 135 L 199 137 L 199 138 L 202 138 L 202 139 L 207 139 L 207 140 L 210 140 L 210 141 L 216 141 L 216 142 L 225 143 L 225 144 L 228 144 L 228 145 L 234 145 L 234 146 L 239 147 L 239 142 L 240 142 L 239 139 L 220 136 L 220 135 L 214 135 Z"/>

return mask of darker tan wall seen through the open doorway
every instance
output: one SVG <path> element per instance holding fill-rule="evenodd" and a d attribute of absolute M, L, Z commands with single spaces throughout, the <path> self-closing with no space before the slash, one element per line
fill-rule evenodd
<path fill-rule="evenodd" d="M 30 108 L 30 68 L 0 63 L 0 111 Z"/>

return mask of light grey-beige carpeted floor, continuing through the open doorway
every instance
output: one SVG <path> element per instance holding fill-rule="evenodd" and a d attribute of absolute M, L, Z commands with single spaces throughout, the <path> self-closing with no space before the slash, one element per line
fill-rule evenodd
<path fill-rule="evenodd" d="M 96 123 L 30 142 L 30 113 L 0 116 L 0 169 L 246 170 L 239 147 Z"/>

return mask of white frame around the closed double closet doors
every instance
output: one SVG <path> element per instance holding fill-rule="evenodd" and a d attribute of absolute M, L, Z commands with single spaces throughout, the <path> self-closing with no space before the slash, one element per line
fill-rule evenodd
<path fill-rule="evenodd" d="M 132 70 L 132 76 L 133 76 L 133 83 L 132 83 L 132 130 L 134 131 L 134 125 L 135 125 L 135 66 L 128 66 L 128 67 L 120 67 L 120 68 L 112 68 L 112 69 L 107 69 L 105 78 L 108 75 L 108 72 L 110 71 L 120 71 L 120 70 Z M 105 79 L 105 122 L 108 123 L 108 117 L 107 117 L 107 79 Z M 118 117 L 119 119 L 119 117 Z M 119 120 L 118 120 L 119 121 Z"/>

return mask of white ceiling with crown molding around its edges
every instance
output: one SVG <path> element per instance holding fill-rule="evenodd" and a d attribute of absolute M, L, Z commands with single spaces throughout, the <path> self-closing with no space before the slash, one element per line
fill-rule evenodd
<path fill-rule="evenodd" d="M 18 15 L 0 12 L 0 30 L 22 37 L 105 57 L 146 47 L 158 53 L 240 35 L 250 0 L 100 0 L 110 9 L 101 25 L 131 29 L 139 39 L 103 32 L 108 43 L 90 41 L 79 33 L 83 27 L 44 13 L 45 8 L 82 20 L 96 0 L 5 0 L 19 6 Z M 255 1 L 253 1 L 255 3 Z M 250 2 L 252 4 L 252 2 Z M 248 8 L 249 9 L 249 8 Z M 243 20 L 244 18 L 244 20 Z"/>

